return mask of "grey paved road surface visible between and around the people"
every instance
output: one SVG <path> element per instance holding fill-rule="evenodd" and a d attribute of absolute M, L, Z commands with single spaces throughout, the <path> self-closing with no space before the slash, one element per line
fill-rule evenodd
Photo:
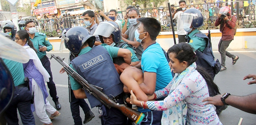
<path fill-rule="evenodd" d="M 231 52 L 232 53 L 232 52 Z M 68 62 L 69 53 L 47 53 L 47 56 L 50 57 L 51 54 L 55 56 L 60 56 L 61 58 L 66 58 L 66 62 Z M 235 65 L 232 65 L 232 59 L 226 59 L 226 67 L 227 70 L 219 72 L 216 75 L 214 82 L 219 86 L 221 93 L 229 92 L 231 95 L 239 95 L 245 96 L 251 93 L 255 93 L 256 85 L 247 85 L 246 83 L 250 80 L 242 80 L 245 75 L 248 74 L 256 74 L 256 51 L 245 51 L 245 49 L 237 50 L 233 54 L 239 55 L 240 59 Z M 214 52 L 215 58 L 220 60 L 220 55 L 217 52 Z M 61 109 L 59 112 L 61 115 L 52 120 L 55 125 L 73 125 L 73 119 L 70 111 L 69 97 L 68 97 L 68 78 L 66 74 L 59 74 L 59 70 L 61 65 L 57 63 L 56 60 L 51 60 L 51 68 L 53 72 L 53 80 L 56 84 L 59 102 L 61 103 Z M 99 74 L 104 75 L 104 74 Z M 46 87 L 47 88 L 47 87 Z M 47 88 L 48 90 L 48 88 Z M 54 106 L 54 102 L 51 97 L 47 98 L 50 103 Z M 86 99 L 88 102 L 88 100 Z M 239 101 L 239 100 L 238 100 Z M 55 106 L 54 106 L 55 107 Z M 95 118 L 87 123 L 87 125 L 100 125 L 98 108 L 91 109 Z M 80 108 L 80 114 L 82 119 L 84 120 L 84 113 Z M 48 113 L 48 115 L 50 115 Z M 35 116 L 35 121 L 37 125 L 43 124 L 37 116 Z M 236 125 L 239 122 L 239 119 L 243 118 L 242 125 L 255 125 L 255 114 L 250 114 L 243 112 L 239 109 L 229 106 L 226 110 L 224 110 L 220 115 L 219 119 L 224 125 Z M 22 122 L 19 120 L 19 124 Z"/>

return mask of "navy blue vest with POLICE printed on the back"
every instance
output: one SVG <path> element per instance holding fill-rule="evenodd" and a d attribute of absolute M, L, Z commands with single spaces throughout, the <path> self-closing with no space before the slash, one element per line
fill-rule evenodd
<path fill-rule="evenodd" d="M 102 92 L 110 98 L 123 92 L 123 83 L 108 51 L 101 45 L 93 47 L 90 51 L 82 54 L 71 61 L 73 68 L 91 85 L 103 88 Z M 91 108 L 101 102 L 85 90 Z"/>

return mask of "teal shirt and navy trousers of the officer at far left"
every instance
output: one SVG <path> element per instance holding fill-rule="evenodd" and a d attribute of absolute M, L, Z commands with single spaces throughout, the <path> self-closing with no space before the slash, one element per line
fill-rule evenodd
<path fill-rule="evenodd" d="M 32 95 L 28 87 L 25 85 L 23 64 L 8 59 L 3 59 L 3 62 L 6 67 L 8 67 L 15 86 L 13 99 L 4 115 L 5 120 L 8 125 L 18 124 L 18 108 L 22 123 L 24 125 L 35 125 L 34 116 L 30 107 Z"/>

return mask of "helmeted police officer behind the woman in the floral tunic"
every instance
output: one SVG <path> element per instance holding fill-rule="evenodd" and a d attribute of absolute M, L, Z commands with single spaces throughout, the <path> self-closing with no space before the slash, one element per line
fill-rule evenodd
<path fill-rule="evenodd" d="M 183 28 L 187 33 L 187 42 L 191 45 L 193 50 L 196 52 L 197 61 L 196 64 L 203 67 L 211 76 L 212 80 L 214 79 L 216 73 L 220 70 L 220 66 L 218 67 L 218 71 L 215 71 L 215 64 L 217 62 L 214 60 L 214 55 L 212 52 L 212 45 L 209 38 L 200 32 L 197 28 L 203 26 L 203 15 L 202 13 L 195 8 L 190 8 L 181 14 L 179 24 L 183 24 L 180 28 Z M 219 62 L 218 62 L 219 63 Z M 209 95 L 215 96 L 213 88 L 209 87 Z M 227 106 L 215 106 L 216 113 L 220 114 L 222 110 L 225 110 Z"/>

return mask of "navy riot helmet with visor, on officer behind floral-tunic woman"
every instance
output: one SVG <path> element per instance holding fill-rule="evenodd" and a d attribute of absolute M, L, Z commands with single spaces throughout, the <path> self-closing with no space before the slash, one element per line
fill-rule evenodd
<path fill-rule="evenodd" d="M 178 30 L 190 28 L 191 25 L 194 28 L 199 28 L 204 25 L 203 21 L 203 15 L 198 9 L 187 9 L 184 13 L 181 13 L 180 15 L 180 25 L 178 26 Z"/>

